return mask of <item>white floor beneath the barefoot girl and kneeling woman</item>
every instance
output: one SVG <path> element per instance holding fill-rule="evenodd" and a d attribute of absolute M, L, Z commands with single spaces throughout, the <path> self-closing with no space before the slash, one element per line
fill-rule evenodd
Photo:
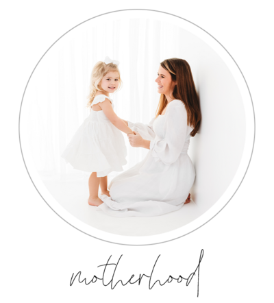
<path fill-rule="evenodd" d="M 108 180 L 110 182 L 110 179 Z M 116 218 L 88 205 L 88 178 L 79 180 L 43 180 L 55 199 L 84 223 L 93 228 L 125 236 L 150 236 L 180 228 L 201 215 L 191 201 L 180 210 L 158 217 Z"/>

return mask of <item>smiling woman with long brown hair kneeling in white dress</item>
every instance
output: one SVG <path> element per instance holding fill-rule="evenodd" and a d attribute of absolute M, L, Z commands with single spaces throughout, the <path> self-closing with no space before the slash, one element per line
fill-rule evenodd
<path fill-rule="evenodd" d="M 112 180 L 111 197 L 101 196 L 99 209 L 115 217 L 163 215 L 189 202 L 195 169 L 187 151 L 201 110 L 188 62 L 164 60 L 155 82 L 161 94 L 156 117 L 149 125 L 127 122 L 135 134 L 128 134 L 129 143 L 149 153 Z"/>

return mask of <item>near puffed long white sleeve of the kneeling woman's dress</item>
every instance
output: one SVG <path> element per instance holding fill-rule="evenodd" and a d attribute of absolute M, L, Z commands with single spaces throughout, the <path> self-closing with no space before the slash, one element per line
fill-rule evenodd
<path fill-rule="evenodd" d="M 149 149 L 155 161 L 165 165 L 175 162 L 182 152 L 186 140 L 187 112 L 182 101 L 173 100 L 166 108 L 164 121 L 164 138 L 151 140 Z"/>

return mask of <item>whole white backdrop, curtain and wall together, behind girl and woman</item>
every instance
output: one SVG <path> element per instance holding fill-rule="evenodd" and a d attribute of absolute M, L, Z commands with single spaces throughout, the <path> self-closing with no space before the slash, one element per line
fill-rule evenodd
<path fill-rule="evenodd" d="M 202 123 L 190 139 L 188 154 L 197 178 L 192 199 L 203 211 L 221 197 L 234 178 L 245 144 L 245 111 L 232 73 L 217 53 L 186 29 L 150 19 L 127 19 L 78 25 L 42 57 L 25 91 L 29 105 L 28 143 L 42 180 L 79 180 L 89 175 L 60 157 L 73 134 L 88 117 L 90 74 L 96 62 L 119 60 L 123 87 L 111 97 L 116 114 L 149 123 L 160 95 L 160 62 L 182 58 L 190 64 L 199 93 Z M 147 149 L 127 146 L 129 169 Z M 112 173 L 109 180 L 119 173 Z"/>

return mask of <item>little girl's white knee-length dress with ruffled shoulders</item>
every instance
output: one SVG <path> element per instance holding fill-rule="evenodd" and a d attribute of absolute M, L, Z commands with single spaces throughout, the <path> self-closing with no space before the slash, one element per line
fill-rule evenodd
<path fill-rule="evenodd" d="M 108 98 L 114 108 L 113 100 L 105 95 L 98 95 L 92 106 Z M 62 153 L 62 158 L 73 168 L 82 171 L 97 172 L 97 177 L 104 177 L 111 171 L 123 171 L 127 164 L 127 148 L 121 131 L 105 116 L 103 110 L 90 109 L 89 116 L 79 127 L 69 145 Z"/>

